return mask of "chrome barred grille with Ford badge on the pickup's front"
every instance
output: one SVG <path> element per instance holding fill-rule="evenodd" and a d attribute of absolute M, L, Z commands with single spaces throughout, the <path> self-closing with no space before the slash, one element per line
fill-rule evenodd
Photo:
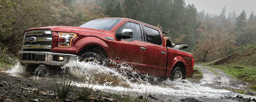
<path fill-rule="evenodd" d="M 25 32 L 22 50 L 51 50 L 52 33 L 48 30 L 34 30 Z"/>

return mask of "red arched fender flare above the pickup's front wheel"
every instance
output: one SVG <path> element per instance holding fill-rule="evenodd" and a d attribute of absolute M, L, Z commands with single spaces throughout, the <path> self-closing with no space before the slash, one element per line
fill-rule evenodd
<path fill-rule="evenodd" d="M 101 48 L 103 48 L 104 50 L 109 48 L 108 44 L 106 44 L 106 42 L 104 40 L 102 40 L 101 38 L 98 38 L 95 36 L 88 36 L 88 37 L 84 37 L 84 38 L 80 39 L 79 41 L 77 41 L 76 46 L 78 47 L 78 49 L 76 50 L 76 53 L 79 53 L 82 50 L 82 48 L 84 48 L 88 45 L 92 45 L 92 44 L 98 45 Z M 108 55 L 108 53 L 107 53 L 107 55 Z"/>

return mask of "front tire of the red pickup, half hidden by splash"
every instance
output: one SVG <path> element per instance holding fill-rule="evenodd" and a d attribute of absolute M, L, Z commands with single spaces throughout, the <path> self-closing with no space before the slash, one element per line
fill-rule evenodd
<path fill-rule="evenodd" d="M 79 61 L 84 62 L 94 62 L 99 65 L 108 66 L 108 61 L 106 58 L 101 54 L 96 54 L 93 52 L 84 53 L 80 56 Z"/>

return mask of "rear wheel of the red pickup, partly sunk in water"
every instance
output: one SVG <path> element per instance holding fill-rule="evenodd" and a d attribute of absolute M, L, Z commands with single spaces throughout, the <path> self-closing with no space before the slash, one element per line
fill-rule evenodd
<path fill-rule="evenodd" d="M 170 76 L 170 80 L 181 80 L 185 79 L 185 72 L 181 67 L 175 67 L 174 71 L 172 72 L 172 75 Z"/>

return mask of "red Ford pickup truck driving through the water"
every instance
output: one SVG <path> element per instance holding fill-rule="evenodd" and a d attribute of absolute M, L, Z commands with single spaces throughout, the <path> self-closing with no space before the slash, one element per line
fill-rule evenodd
<path fill-rule="evenodd" d="M 170 43 L 170 42 L 168 42 Z M 25 31 L 20 64 L 63 66 L 79 57 L 105 66 L 126 63 L 142 73 L 185 79 L 193 75 L 193 55 L 166 46 L 162 31 L 128 18 L 100 18 L 79 27 L 41 27 Z"/>

